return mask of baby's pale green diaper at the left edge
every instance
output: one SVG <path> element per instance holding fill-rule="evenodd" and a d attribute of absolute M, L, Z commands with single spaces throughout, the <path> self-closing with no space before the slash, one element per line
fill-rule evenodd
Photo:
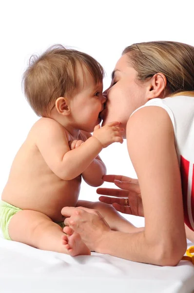
<path fill-rule="evenodd" d="M 3 200 L 0 200 L 0 229 L 2 230 L 3 237 L 7 240 L 11 240 L 9 236 L 9 222 L 11 218 L 19 212 L 21 209 L 12 206 Z M 65 227 L 64 222 L 57 223 L 62 229 Z"/>

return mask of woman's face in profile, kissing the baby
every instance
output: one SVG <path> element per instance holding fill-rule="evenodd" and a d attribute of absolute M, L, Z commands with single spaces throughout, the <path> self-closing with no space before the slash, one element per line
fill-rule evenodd
<path fill-rule="evenodd" d="M 126 128 L 130 115 L 147 102 L 146 83 L 140 83 L 136 77 L 129 56 L 123 55 L 116 63 L 110 87 L 104 92 L 107 102 L 102 112 L 102 125 L 119 121 Z"/>

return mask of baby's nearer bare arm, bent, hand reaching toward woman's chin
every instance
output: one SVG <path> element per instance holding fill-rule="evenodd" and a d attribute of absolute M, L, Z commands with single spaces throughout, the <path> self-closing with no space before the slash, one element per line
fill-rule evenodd
<path fill-rule="evenodd" d="M 108 126 L 100 131 L 100 134 L 97 131 L 96 137 L 90 137 L 84 144 L 72 150 L 69 148 L 64 127 L 53 119 L 40 119 L 34 126 L 34 133 L 37 147 L 48 167 L 59 178 L 72 180 L 83 173 L 103 147 L 114 141 L 121 141 L 118 131 L 116 131 L 117 136 L 114 134 L 115 128 L 118 127 Z M 105 142 L 104 145 L 100 140 Z"/>

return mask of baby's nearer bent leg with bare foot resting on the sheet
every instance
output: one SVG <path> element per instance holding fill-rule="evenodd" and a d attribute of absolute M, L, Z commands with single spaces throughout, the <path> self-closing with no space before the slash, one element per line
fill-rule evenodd
<path fill-rule="evenodd" d="M 9 235 L 12 240 L 28 244 L 47 251 L 66 254 L 90 254 L 78 233 L 63 233 L 62 228 L 48 216 L 34 210 L 20 210 L 9 223 Z M 65 242 L 64 242 L 65 240 Z"/>

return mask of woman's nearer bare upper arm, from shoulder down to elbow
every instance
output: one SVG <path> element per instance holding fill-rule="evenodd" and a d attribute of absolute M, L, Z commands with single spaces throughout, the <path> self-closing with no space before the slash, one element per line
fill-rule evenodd
<path fill-rule="evenodd" d="M 127 146 L 141 189 L 144 242 L 158 253 L 161 263 L 176 263 L 186 250 L 186 235 L 174 129 L 168 113 L 154 106 L 138 110 L 127 125 Z"/>

